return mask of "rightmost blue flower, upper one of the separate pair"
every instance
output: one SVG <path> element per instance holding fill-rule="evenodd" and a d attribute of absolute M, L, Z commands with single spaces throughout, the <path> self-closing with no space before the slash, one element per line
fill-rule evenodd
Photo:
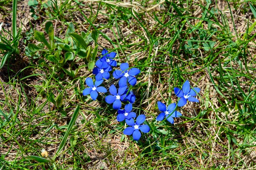
<path fill-rule="evenodd" d="M 180 90 L 179 88 L 174 88 L 174 93 L 176 94 L 176 96 L 180 97 L 178 106 L 182 107 L 186 105 L 187 100 L 189 100 L 190 102 L 199 102 L 199 100 L 194 97 L 196 96 L 195 91 L 199 93 L 200 88 L 194 88 L 194 90 L 190 89 L 190 84 L 188 80 L 184 82 L 182 90 Z"/>

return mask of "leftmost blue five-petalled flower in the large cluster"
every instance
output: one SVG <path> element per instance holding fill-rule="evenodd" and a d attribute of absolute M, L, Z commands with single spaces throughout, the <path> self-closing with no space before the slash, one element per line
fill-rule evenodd
<path fill-rule="evenodd" d="M 90 94 L 91 98 L 93 100 L 96 100 L 97 96 L 98 96 L 98 92 L 100 93 L 106 93 L 107 89 L 105 87 L 98 87 L 99 85 L 102 84 L 103 80 L 100 81 L 95 81 L 95 85 L 93 84 L 93 80 L 88 77 L 85 80 L 87 86 L 89 86 L 89 88 L 84 89 L 83 91 L 83 95 L 86 96 L 88 94 Z"/>

